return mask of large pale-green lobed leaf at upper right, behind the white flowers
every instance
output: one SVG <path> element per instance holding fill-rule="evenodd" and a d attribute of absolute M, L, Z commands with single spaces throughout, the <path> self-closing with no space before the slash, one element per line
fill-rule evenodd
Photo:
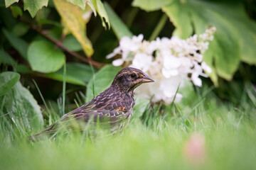
<path fill-rule="evenodd" d="M 159 3 L 157 8 L 151 4 Z M 165 1 L 135 0 L 134 6 L 146 11 L 161 8 L 176 26 L 174 35 L 188 38 L 193 31 L 203 33 L 208 26 L 215 26 L 215 39 L 210 42 L 204 60 L 213 72 L 210 78 L 218 84 L 217 76 L 230 80 L 242 60 L 256 64 L 256 24 L 245 13 L 242 3 L 228 1 Z"/>

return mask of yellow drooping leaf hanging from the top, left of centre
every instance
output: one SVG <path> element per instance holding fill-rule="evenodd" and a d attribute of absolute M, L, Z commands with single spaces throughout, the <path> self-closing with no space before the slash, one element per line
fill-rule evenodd
<path fill-rule="evenodd" d="M 75 6 L 65 0 L 53 0 L 53 2 L 58 13 L 60 13 L 63 23 L 65 23 L 64 25 L 78 39 L 85 54 L 90 57 L 93 54 L 92 44 L 85 34 L 86 22 L 82 18 L 82 15 L 90 12 L 90 9 L 85 8 L 85 10 L 82 10 L 79 6 Z"/>

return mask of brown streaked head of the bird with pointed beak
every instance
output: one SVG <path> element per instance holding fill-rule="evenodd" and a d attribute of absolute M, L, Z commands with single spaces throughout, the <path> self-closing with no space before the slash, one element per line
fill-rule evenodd
<path fill-rule="evenodd" d="M 119 87 L 124 91 L 133 91 L 140 84 L 149 82 L 154 82 L 154 80 L 150 79 L 142 70 L 127 67 L 117 73 L 112 86 Z"/>

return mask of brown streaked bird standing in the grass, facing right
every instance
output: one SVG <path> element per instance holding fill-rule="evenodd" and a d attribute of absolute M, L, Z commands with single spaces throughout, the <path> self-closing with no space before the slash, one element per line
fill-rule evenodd
<path fill-rule="evenodd" d="M 74 121 L 78 123 L 78 126 L 85 126 L 92 120 L 100 125 L 109 125 L 111 133 L 121 132 L 127 127 L 132 116 L 135 105 L 134 89 L 149 82 L 154 82 L 154 80 L 140 69 L 133 67 L 121 69 L 109 88 L 92 98 L 91 101 L 63 115 L 48 128 L 33 135 L 32 139 L 42 134 L 53 134 L 61 126 L 70 127 Z M 85 127 L 80 130 L 85 130 Z"/>

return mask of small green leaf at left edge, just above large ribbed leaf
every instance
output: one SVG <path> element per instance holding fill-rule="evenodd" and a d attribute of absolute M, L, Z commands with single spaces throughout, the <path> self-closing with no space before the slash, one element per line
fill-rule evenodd
<path fill-rule="evenodd" d="M 0 74 L 0 96 L 6 94 L 20 79 L 20 74 L 16 72 L 2 72 Z"/>

